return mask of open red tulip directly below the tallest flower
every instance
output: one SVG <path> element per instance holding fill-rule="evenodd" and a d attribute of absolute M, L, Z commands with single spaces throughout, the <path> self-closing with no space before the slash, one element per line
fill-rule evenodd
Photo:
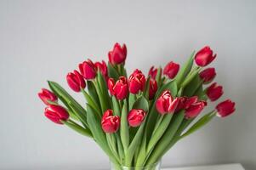
<path fill-rule="evenodd" d="M 128 95 L 128 82 L 126 77 L 119 77 L 115 83 L 113 78 L 108 79 L 108 88 L 110 93 L 117 97 L 117 99 L 125 99 Z"/>

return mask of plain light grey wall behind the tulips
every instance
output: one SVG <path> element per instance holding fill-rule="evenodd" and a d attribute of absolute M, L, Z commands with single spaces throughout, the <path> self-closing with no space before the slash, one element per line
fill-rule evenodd
<path fill-rule="evenodd" d="M 253 0 L 0 1 L 0 168 L 108 166 L 93 141 L 43 116 L 37 91 L 46 80 L 68 88 L 65 74 L 79 62 L 107 59 L 114 42 L 126 42 L 128 70 L 144 72 L 172 59 L 184 63 L 209 44 L 218 53 L 211 66 L 225 88 L 222 99 L 236 101 L 236 114 L 181 141 L 163 166 L 241 162 L 256 169 L 255 6 Z"/>

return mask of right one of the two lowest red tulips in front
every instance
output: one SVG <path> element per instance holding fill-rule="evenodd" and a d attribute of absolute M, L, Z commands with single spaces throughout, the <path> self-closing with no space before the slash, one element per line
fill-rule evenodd
<path fill-rule="evenodd" d="M 128 123 L 131 127 L 138 127 L 145 118 L 145 111 L 142 109 L 133 109 L 128 114 Z"/>

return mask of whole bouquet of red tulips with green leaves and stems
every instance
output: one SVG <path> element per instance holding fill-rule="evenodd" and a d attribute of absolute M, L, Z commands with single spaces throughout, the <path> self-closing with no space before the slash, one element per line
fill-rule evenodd
<path fill-rule="evenodd" d="M 193 52 L 180 68 L 173 61 L 163 71 L 152 66 L 148 76 L 138 69 L 127 76 L 125 44 L 116 43 L 108 57 L 108 65 L 88 59 L 66 76 L 86 105 L 57 82 L 48 81 L 51 91 L 43 88 L 38 95 L 47 105 L 44 115 L 49 120 L 94 139 L 115 169 L 155 169 L 153 165 L 180 139 L 214 116 L 235 111 L 235 103 L 226 99 L 201 114 L 208 100 L 214 102 L 223 94 L 216 82 L 208 86 L 216 76 L 214 68 L 204 69 L 216 58 L 209 47 Z"/>

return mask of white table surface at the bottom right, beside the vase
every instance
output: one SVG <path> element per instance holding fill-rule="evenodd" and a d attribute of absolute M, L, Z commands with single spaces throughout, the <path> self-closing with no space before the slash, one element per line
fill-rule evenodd
<path fill-rule="evenodd" d="M 225 164 L 213 166 L 199 166 L 199 167 L 171 167 L 163 168 L 162 170 L 244 170 L 241 164 Z"/>

